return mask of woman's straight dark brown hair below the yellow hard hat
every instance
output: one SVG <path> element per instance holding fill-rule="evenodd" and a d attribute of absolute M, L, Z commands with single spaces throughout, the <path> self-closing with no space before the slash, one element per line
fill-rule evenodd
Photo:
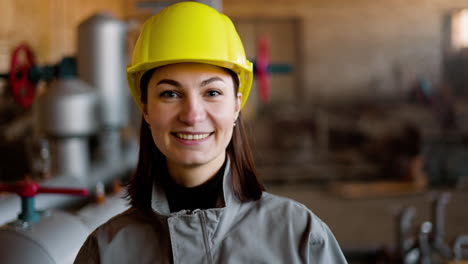
<path fill-rule="evenodd" d="M 155 69 L 147 71 L 141 78 L 141 101 L 146 103 L 147 87 Z M 236 73 L 226 69 L 234 82 L 237 93 L 239 79 Z M 248 142 L 245 125 L 241 114 L 236 121 L 231 141 L 226 148 L 227 155 L 231 161 L 231 179 L 235 196 L 241 202 L 255 201 L 260 199 L 265 190 L 258 179 L 252 151 Z M 144 212 L 151 211 L 151 197 L 154 184 L 160 184 L 166 158 L 156 147 L 151 135 L 151 130 L 145 119 L 141 119 L 140 128 L 140 151 L 135 173 L 127 184 L 127 198 L 130 204 Z"/>

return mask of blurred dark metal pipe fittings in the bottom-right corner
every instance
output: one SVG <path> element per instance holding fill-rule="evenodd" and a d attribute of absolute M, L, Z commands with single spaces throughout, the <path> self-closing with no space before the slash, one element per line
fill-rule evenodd
<path fill-rule="evenodd" d="M 445 236 L 445 207 L 449 193 L 432 201 L 431 219 L 414 225 L 416 209 L 405 207 L 396 216 L 395 244 L 344 248 L 350 263 L 466 264 L 468 235 L 458 235 L 451 243 Z"/>

